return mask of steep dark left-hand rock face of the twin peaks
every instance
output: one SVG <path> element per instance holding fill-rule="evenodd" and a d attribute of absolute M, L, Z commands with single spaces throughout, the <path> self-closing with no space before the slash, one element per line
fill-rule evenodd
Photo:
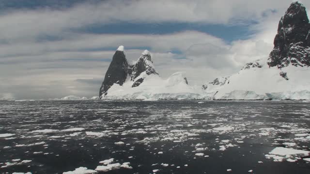
<path fill-rule="evenodd" d="M 127 78 L 127 74 L 128 62 L 124 51 L 117 50 L 109 65 L 102 86 L 100 87 L 99 99 L 101 99 L 103 95 L 107 95 L 107 91 L 114 83 L 122 86 Z"/>

